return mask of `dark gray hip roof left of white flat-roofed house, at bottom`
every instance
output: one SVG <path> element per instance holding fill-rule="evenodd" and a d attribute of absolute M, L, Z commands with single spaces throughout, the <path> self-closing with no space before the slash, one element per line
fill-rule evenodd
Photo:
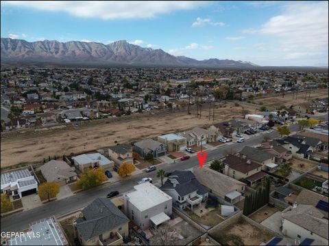
<path fill-rule="evenodd" d="M 103 197 L 97 198 L 84 208 L 82 214 L 84 221 L 77 221 L 77 230 L 85 241 L 129 221 L 117 206 Z"/>

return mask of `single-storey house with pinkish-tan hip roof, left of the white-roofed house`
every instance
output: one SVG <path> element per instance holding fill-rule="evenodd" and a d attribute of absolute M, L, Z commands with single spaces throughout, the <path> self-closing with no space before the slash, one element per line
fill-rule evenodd
<path fill-rule="evenodd" d="M 77 180 L 75 167 L 70 167 L 65 161 L 48 161 L 39 170 L 47 182 L 56 182 L 60 186 Z"/>

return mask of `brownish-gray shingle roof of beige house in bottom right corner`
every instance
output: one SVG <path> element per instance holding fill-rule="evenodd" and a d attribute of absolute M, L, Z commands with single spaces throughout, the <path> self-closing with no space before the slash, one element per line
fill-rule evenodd
<path fill-rule="evenodd" d="M 297 205 L 283 213 L 282 217 L 310 232 L 328 239 L 328 220 L 312 205 Z"/>

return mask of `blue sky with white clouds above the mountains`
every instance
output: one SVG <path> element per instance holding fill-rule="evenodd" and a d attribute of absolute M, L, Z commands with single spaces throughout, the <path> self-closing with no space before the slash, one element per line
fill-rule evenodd
<path fill-rule="evenodd" d="M 195 59 L 328 66 L 328 1 L 1 1 L 1 37 L 127 40 Z"/>

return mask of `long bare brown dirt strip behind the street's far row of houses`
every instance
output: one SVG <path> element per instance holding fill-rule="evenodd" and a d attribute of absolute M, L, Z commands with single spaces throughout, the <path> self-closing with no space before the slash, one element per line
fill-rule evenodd
<path fill-rule="evenodd" d="M 242 108 L 228 103 L 226 107 L 215 110 L 215 122 L 241 118 Z M 250 109 L 252 111 L 252 109 Z M 112 120 L 112 121 L 110 121 Z M 62 156 L 71 153 L 88 152 L 99 148 L 113 146 L 132 140 L 156 137 L 164 133 L 184 131 L 195 126 L 212 124 L 208 120 L 208 107 L 202 109 L 202 118 L 196 118 L 196 111 L 191 115 L 186 111 L 161 115 L 145 115 L 145 117 L 127 117 L 119 121 L 93 120 L 81 126 L 66 127 L 49 131 L 38 131 L 1 136 L 1 167 L 17 164 L 42 162 L 48 156 Z M 10 133 L 12 134 L 12 133 Z"/>

